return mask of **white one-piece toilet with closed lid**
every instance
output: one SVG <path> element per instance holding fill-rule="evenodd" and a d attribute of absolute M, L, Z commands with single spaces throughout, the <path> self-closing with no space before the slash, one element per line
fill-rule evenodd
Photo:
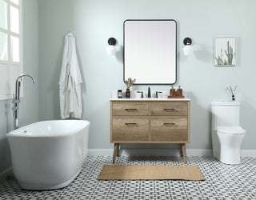
<path fill-rule="evenodd" d="M 226 164 L 240 163 L 246 130 L 240 126 L 240 102 L 212 102 L 213 156 Z"/>

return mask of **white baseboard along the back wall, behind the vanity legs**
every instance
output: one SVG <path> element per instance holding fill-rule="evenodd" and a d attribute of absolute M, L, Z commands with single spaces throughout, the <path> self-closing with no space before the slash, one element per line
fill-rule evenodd
<path fill-rule="evenodd" d="M 112 156 L 113 149 L 90 149 L 89 155 L 95 156 Z M 146 150 L 146 149 L 125 149 L 120 150 L 122 156 L 179 156 L 180 150 Z M 212 150 L 209 149 L 186 149 L 187 156 L 212 156 Z M 256 150 L 241 150 L 242 157 L 256 158 Z"/>

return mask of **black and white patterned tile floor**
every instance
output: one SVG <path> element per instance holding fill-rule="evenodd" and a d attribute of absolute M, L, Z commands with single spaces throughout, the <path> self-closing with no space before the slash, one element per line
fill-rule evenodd
<path fill-rule="evenodd" d="M 179 157 L 119 157 L 118 165 L 183 165 Z M 0 185 L 0 199 L 256 199 L 256 158 L 230 166 L 210 157 L 188 157 L 206 181 L 98 181 L 112 157 L 89 156 L 82 172 L 59 190 L 22 190 L 14 178 Z"/>

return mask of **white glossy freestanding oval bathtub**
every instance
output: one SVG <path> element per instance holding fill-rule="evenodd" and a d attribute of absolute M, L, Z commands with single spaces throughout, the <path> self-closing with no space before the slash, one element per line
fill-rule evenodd
<path fill-rule="evenodd" d="M 90 122 L 35 122 L 7 134 L 14 175 L 23 189 L 67 186 L 82 170 L 88 151 Z"/>

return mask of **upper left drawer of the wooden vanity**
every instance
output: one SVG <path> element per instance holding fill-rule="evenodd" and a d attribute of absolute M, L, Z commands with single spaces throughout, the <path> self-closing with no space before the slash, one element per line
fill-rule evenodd
<path fill-rule="evenodd" d="M 148 102 L 113 102 L 112 115 L 143 116 L 149 115 Z"/>

